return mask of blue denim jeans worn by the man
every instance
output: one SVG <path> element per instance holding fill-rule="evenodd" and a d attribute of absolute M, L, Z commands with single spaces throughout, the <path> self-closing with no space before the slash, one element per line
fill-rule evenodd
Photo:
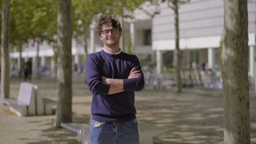
<path fill-rule="evenodd" d="M 139 144 L 138 122 L 123 124 L 91 121 L 91 144 Z"/>

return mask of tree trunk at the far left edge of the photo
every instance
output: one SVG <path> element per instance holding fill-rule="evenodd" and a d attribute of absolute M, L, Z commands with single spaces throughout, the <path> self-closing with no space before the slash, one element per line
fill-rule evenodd
<path fill-rule="evenodd" d="M 9 98 L 9 11 L 10 0 L 3 0 L 1 33 L 1 98 Z"/>

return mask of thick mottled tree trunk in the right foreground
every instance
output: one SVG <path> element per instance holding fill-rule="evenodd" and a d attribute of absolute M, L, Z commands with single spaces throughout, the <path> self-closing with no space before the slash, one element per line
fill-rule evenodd
<path fill-rule="evenodd" d="M 247 1 L 224 1 L 224 143 L 249 144 Z"/>

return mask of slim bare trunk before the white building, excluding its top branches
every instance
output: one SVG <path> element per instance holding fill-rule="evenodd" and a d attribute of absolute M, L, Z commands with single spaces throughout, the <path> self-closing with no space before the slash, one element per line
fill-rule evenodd
<path fill-rule="evenodd" d="M 177 92 L 182 92 L 182 80 L 181 80 L 181 52 L 179 50 L 179 12 L 178 1 L 173 1 L 173 10 L 175 15 L 175 51 L 174 59 L 176 62 L 176 88 Z"/>

